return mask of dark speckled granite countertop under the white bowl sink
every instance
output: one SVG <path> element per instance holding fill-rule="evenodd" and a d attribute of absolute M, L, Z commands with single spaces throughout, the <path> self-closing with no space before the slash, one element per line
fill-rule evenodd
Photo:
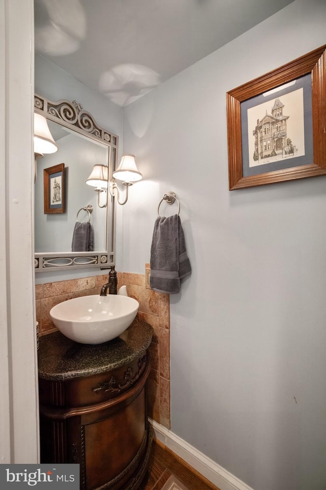
<path fill-rule="evenodd" d="M 39 378 L 62 381 L 117 369 L 133 361 L 152 340 L 153 329 L 135 318 L 119 337 L 99 345 L 78 344 L 60 332 L 40 337 Z"/>

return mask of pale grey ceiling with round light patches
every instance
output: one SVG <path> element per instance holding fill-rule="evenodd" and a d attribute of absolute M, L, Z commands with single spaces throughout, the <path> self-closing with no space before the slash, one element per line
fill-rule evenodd
<path fill-rule="evenodd" d="M 35 50 L 125 106 L 293 0 L 35 0 Z"/>

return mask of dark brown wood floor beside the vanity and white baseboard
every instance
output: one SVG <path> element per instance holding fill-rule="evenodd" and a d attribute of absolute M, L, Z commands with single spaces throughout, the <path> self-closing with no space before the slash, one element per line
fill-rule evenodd
<path fill-rule="evenodd" d="M 148 471 L 139 490 L 159 490 L 162 479 L 169 474 L 166 470 L 174 473 L 189 490 L 219 490 L 170 449 L 155 441 L 152 444 Z"/>

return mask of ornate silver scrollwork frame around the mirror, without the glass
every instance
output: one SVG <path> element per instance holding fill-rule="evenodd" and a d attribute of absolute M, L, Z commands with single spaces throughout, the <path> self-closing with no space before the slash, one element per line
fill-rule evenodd
<path fill-rule="evenodd" d="M 118 136 L 99 127 L 93 116 L 83 110 L 76 101 L 60 100 L 52 102 L 35 94 L 35 112 L 46 119 L 57 122 L 70 131 L 79 133 L 108 147 L 108 180 L 116 168 Z M 110 199 L 111 198 L 111 199 Z M 106 250 L 104 252 L 38 252 L 35 253 L 35 272 L 48 272 L 51 269 L 71 269 L 80 267 L 100 267 L 115 263 L 115 198 L 107 193 Z"/>

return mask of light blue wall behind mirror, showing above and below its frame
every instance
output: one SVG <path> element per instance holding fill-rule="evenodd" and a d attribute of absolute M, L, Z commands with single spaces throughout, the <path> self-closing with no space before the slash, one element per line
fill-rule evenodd
<path fill-rule="evenodd" d="M 82 104 L 83 109 L 90 112 L 97 124 L 119 136 L 119 155 L 123 148 L 123 109 L 113 104 L 99 92 L 86 87 L 74 79 L 66 71 L 43 57 L 35 56 L 35 92 L 52 101 L 67 99 Z M 87 189 L 85 193 L 87 192 Z M 93 192 L 95 194 L 95 192 Z M 120 219 L 120 210 L 118 218 Z M 120 236 L 120 235 L 119 235 Z M 116 246 L 121 250 L 120 238 Z M 119 269 L 121 270 L 121 269 Z M 36 274 L 36 284 L 53 281 L 63 281 L 86 276 L 102 274 L 99 268 L 78 269 L 78 271 L 53 271 Z"/>

